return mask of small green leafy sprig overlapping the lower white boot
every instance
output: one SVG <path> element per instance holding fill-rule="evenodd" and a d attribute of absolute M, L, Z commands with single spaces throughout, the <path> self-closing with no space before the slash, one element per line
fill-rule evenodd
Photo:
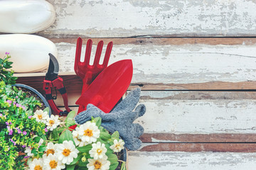
<path fill-rule="evenodd" d="M 16 84 L 18 78 L 14 77 L 14 70 L 11 69 L 13 62 L 9 61 L 10 58 L 9 52 L 6 52 L 4 58 L 0 58 L 0 81 L 4 81 L 6 84 Z"/>

